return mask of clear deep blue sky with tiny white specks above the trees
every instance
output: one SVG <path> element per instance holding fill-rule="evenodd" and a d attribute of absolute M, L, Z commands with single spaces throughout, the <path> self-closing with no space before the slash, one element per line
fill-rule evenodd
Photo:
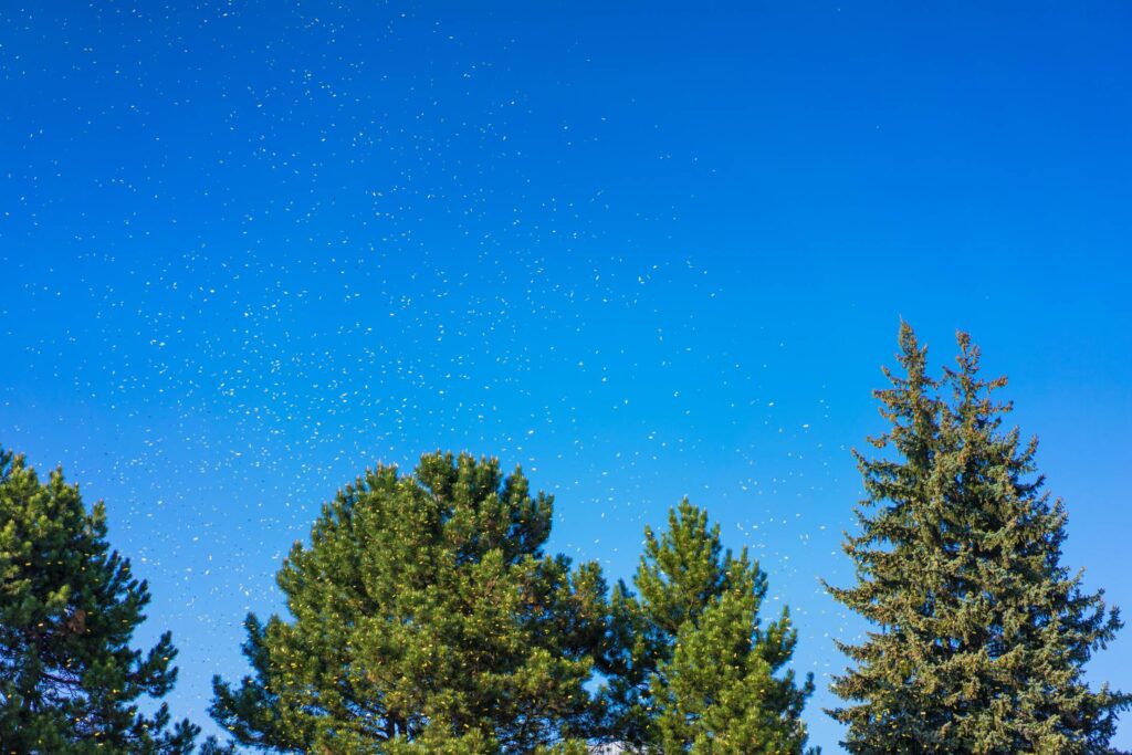
<path fill-rule="evenodd" d="M 0 443 L 106 500 L 175 714 L 320 503 L 440 447 L 611 577 L 706 506 L 838 752 L 818 577 L 900 317 L 1011 376 L 1132 610 L 1127 3 L 91 5 L 0 6 Z"/>

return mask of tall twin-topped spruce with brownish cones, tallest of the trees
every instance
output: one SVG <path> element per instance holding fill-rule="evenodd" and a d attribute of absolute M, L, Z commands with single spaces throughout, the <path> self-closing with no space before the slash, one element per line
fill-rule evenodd
<path fill-rule="evenodd" d="M 1037 439 L 1004 430 L 1005 378 L 979 377 L 960 333 L 958 368 L 929 377 L 900 331 L 904 376 L 876 392 L 891 428 L 857 454 L 866 498 L 846 535 L 857 584 L 833 589 L 873 625 L 833 692 L 851 753 L 1107 753 L 1127 695 L 1091 689 L 1083 667 L 1121 627 L 1100 592 L 1061 564 L 1062 501 L 1036 477 Z"/>

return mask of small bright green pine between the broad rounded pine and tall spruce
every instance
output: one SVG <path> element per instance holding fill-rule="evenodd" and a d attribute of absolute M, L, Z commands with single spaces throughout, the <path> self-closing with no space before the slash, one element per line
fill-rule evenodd
<path fill-rule="evenodd" d="M 789 611 L 763 626 L 766 575 L 686 499 L 660 539 L 645 529 L 634 578 L 611 600 L 603 670 L 609 737 L 642 753 L 801 753 L 813 679 L 784 670 L 797 642 Z M 781 672 L 781 674 L 780 674 Z"/>

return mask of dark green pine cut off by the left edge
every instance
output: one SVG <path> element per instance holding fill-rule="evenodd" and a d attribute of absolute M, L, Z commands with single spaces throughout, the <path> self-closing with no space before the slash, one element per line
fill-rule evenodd
<path fill-rule="evenodd" d="M 46 483 L 0 449 L 0 753 L 173 755 L 197 728 L 169 726 L 137 701 L 172 688 L 169 633 L 147 653 L 130 638 L 145 582 L 106 543 L 100 501 L 87 513 L 61 470 Z"/>

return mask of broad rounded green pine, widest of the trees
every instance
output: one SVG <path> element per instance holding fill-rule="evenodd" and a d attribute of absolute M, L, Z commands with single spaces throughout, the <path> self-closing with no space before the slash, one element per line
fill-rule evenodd
<path fill-rule="evenodd" d="M 284 561 L 291 618 L 248 618 L 254 676 L 217 678 L 213 715 L 267 750 L 580 752 L 606 585 L 543 554 L 551 514 L 496 460 L 367 472 Z"/>

